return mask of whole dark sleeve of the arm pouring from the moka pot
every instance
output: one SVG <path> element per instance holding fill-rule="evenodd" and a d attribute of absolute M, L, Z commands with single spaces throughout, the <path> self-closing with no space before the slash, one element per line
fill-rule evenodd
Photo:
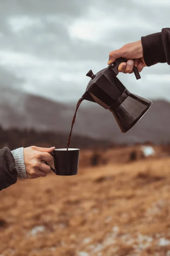
<path fill-rule="evenodd" d="M 142 36 L 141 41 L 144 61 L 148 67 L 165 62 L 170 65 L 170 28 Z"/>

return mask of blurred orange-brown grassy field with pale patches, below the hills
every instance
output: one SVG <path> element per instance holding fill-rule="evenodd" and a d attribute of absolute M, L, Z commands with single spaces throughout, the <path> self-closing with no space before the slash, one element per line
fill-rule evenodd
<path fill-rule="evenodd" d="M 0 256 L 170 256 L 170 157 L 132 150 L 98 152 L 94 167 L 85 151 L 77 176 L 1 191 Z"/>

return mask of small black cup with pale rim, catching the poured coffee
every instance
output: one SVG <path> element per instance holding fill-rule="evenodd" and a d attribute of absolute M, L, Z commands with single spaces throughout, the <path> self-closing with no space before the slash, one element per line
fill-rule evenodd
<path fill-rule="evenodd" d="M 50 153 L 54 158 L 54 168 L 44 161 L 56 175 L 77 175 L 79 166 L 78 148 L 58 148 Z"/>

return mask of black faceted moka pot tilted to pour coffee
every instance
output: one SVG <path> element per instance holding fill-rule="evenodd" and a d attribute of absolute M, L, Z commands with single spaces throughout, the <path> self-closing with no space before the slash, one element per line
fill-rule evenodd
<path fill-rule="evenodd" d="M 96 102 L 111 111 L 120 130 L 126 133 L 144 116 L 152 102 L 130 93 L 116 77 L 119 73 L 119 64 L 122 62 L 127 60 L 118 58 L 96 75 L 90 70 L 86 76 L 89 76 L 91 81 L 88 83 L 83 99 Z M 141 78 L 135 66 L 133 66 L 133 72 L 136 79 Z"/>

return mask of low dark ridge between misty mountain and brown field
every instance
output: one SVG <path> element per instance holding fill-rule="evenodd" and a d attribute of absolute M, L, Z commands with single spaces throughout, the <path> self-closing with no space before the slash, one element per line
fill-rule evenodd
<path fill-rule="evenodd" d="M 67 133 L 55 133 L 53 131 L 35 131 L 20 130 L 18 128 L 3 129 L 0 127 L 0 148 L 9 147 L 11 149 L 20 147 L 29 147 L 37 145 L 39 147 L 66 148 L 68 141 Z M 74 135 L 71 137 L 71 148 L 80 149 L 102 149 L 112 147 L 113 143 L 107 140 L 95 140 L 82 135 Z"/>

